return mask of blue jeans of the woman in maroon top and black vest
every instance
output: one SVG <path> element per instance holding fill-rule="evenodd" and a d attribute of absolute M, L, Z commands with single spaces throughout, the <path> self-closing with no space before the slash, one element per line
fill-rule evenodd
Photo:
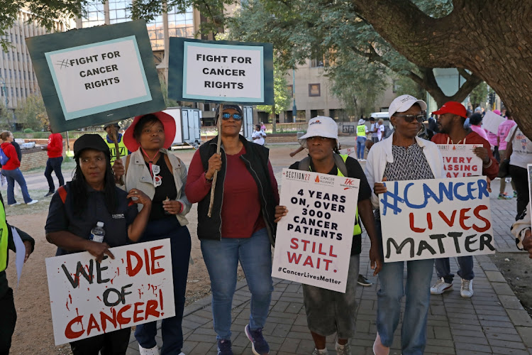
<path fill-rule="evenodd" d="M 231 339 L 231 305 L 238 261 L 251 293 L 250 329 L 264 327 L 272 300 L 272 250 L 266 229 L 250 238 L 201 240 L 201 252 L 211 278 L 216 339 Z"/>

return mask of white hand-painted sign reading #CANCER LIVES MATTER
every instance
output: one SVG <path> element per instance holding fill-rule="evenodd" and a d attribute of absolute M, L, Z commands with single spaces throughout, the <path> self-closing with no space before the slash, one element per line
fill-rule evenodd
<path fill-rule="evenodd" d="M 384 262 L 495 253 L 485 176 L 384 185 Z"/>

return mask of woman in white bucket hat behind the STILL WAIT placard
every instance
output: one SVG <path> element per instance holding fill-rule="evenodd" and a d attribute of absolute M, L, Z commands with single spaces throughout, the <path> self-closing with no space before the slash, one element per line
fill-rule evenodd
<path fill-rule="evenodd" d="M 338 154 L 338 125 L 331 117 L 317 116 L 309 121 L 309 129 L 299 138 L 301 146 L 309 149 L 310 157 L 294 163 L 290 169 L 314 171 L 317 173 L 348 176 L 360 180 L 358 192 L 358 214 L 371 240 L 370 265 L 373 275 L 382 268 L 379 255 L 379 242 L 375 230 L 371 204 L 371 188 L 367 183 L 360 163 L 348 155 Z M 275 207 L 275 222 L 279 222 L 287 215 L 286 206 Z M 351 246 L 348 281 L 345 293 L 339 293 L 325 288 L 303 285 L 303 300 L 306 310 L 306 320 L 309 324 L 312 339 L 316 348 L 312 354 L 327 354 L 326 337 L 336 332 L 337 354 L 351 354 L 349 338 L 355 336 L 356 322 L 356 288 L 362 249 L 362 229 L 360 222 L 353 230 L 353 244 Z M 312 238 L 312 236 L 309 236 Z"/>

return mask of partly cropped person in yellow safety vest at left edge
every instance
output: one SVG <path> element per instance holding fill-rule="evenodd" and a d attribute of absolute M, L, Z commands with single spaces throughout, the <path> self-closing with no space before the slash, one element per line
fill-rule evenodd
<path fill-rule="evenodd" d="M 35 241 L 31 236 L 14 228 L 24 244 L 22 251 L 16 251 L 13 239 L 13 229 L 6 221 L 6 211 L 4 200 L 0 195 L 0 354 L 9 354 L 11 348 L 11 337 L 15 331 L 16 310 L 13 302 L 13 290 L 7 283 L 6 268 L 9 260 L 9 249 L 24 253 L 24 262 L 33 252 Z"/>

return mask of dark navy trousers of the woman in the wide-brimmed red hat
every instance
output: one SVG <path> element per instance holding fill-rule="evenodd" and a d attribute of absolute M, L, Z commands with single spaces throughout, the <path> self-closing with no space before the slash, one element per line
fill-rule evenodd
<path fill-rule="evenodd" d="M 146 230 L 139 242 L 155 241 L 170 238 L 172 251 L 172 278 L 174 280 L 174 317 L 162 320 L 162 348 L 161 355 L 179 354 L 183 347 L 183 330 L 181 327 L 184 310 L 184 293 L 187 290 L 187 275 L 190 259 L 190 233 L 186 226 L 181 226 L 175 216 L 148 222 Z M 157 322 L 139 324 L 135 329 L 138 344 L 151 349 L 157 334 Z"/>

